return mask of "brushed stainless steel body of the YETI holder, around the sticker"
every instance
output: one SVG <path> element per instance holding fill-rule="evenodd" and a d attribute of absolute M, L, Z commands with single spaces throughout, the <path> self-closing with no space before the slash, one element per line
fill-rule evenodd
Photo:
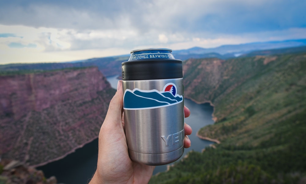
<path fill-rule="evenodd" d="M 135 88 L 162 91 L 167 83 L 174 83 L 177 87 L 177 94 L 184 97 L 182 78 L 122 81 L 122 87 L 123 91 Z M 132 160 L 145 164 L 150 163 L 150 165 L 162 165 L 168 163 L 169 160 L 177 160 L 183 154 L 181 150 L 184 152 L 184 99 L 181 103 L 167 107 L 124 109 L 124 118 L 129 152 L 134 155 L 130 154 Z M 160 155 L 170 152 L 173 153 Z M 136 153 L 145 154 L 145 156 L 139 156 Z M 160 156 L 148 156 L 148 154 Z"/>

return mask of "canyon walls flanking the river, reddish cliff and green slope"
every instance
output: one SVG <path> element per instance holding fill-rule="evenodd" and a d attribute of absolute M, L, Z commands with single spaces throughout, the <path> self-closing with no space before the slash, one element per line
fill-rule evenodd
<path fill-rule="evenodd" d="M 266 53 L 183 61 L 184 98 L 214 106 L 215 124 L 196 133 L 220 144 L 189 153 L 150 183 L 303 180 L 306 52 Z M 115 93 L 100 71 L 2 73 L 1 158 L 36 167 L 95 139 Z"/>

